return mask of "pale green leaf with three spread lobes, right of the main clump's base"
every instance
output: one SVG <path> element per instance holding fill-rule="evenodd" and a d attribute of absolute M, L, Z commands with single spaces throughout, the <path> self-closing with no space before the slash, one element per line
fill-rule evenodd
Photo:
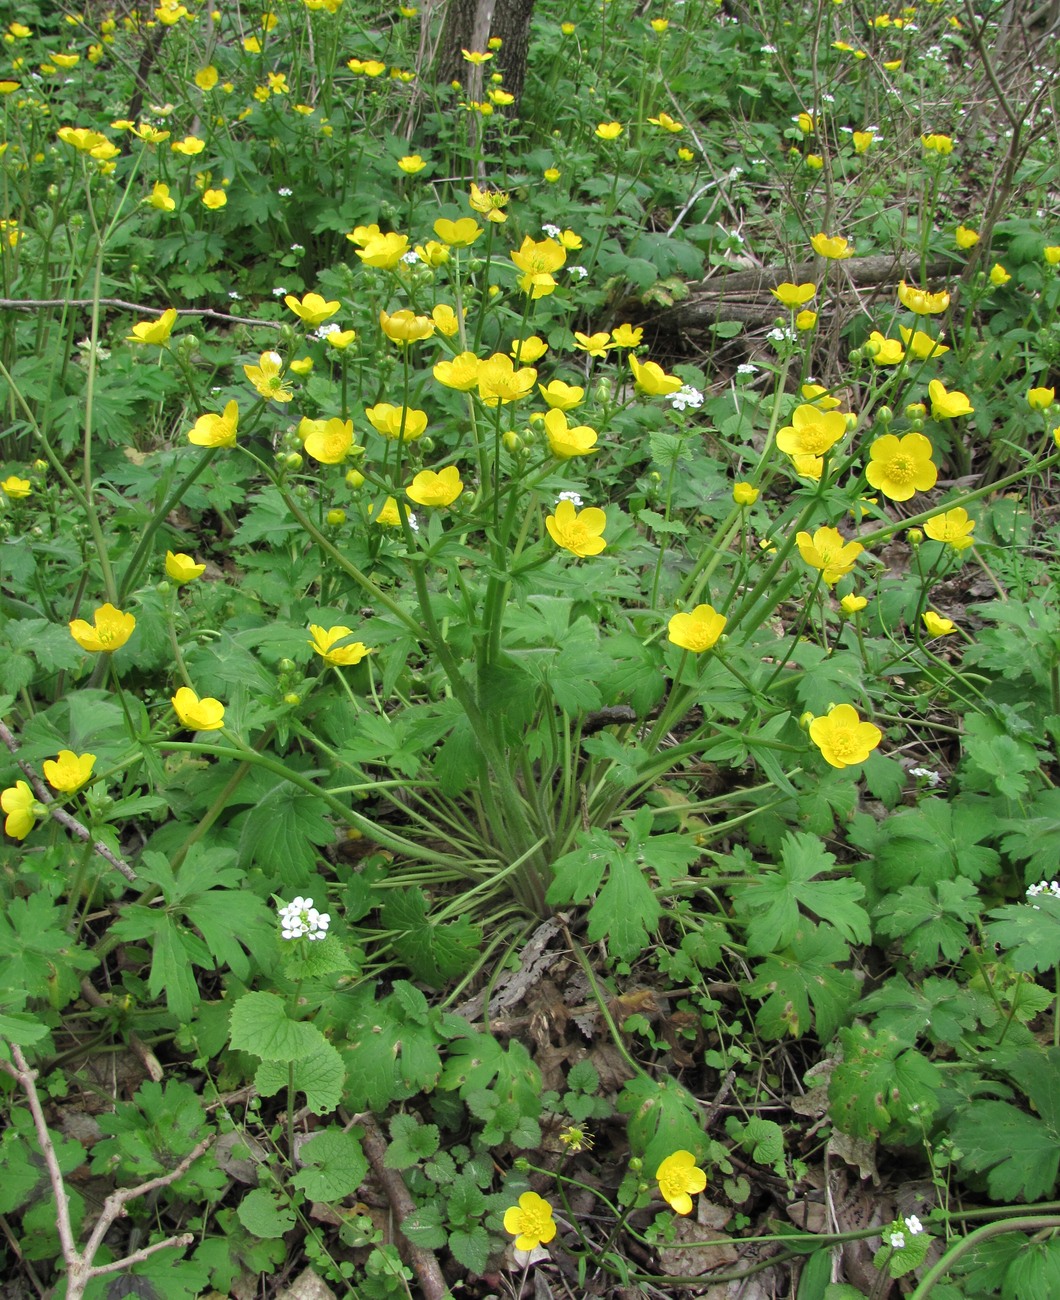
<path fill-rule="evenodd" d="M 748 953 L 752 957 L 787 948 L 799 931 L 804 911 L 828 923 L 851 942 L 868 942 L 869 914 L 860 901 L 865 889 L 856 880 L 814 880 L 834 871 L 835 855 L 814 835 L 787 835 L 782 868 L 731 890 L 737 913 L 750 915 Z"/>

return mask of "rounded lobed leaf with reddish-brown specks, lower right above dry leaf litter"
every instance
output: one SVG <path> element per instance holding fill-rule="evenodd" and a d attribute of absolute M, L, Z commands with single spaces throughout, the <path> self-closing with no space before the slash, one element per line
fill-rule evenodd
<path fill-rule="evenodd" d="M 856 1024 L 839 1031 L 843 1060 L 832 1071 L 828 1105 L 843 1132 L 874 1138 L 938 1109 L 942 1074 L 933 1062 L 887 1030 Z"/>

